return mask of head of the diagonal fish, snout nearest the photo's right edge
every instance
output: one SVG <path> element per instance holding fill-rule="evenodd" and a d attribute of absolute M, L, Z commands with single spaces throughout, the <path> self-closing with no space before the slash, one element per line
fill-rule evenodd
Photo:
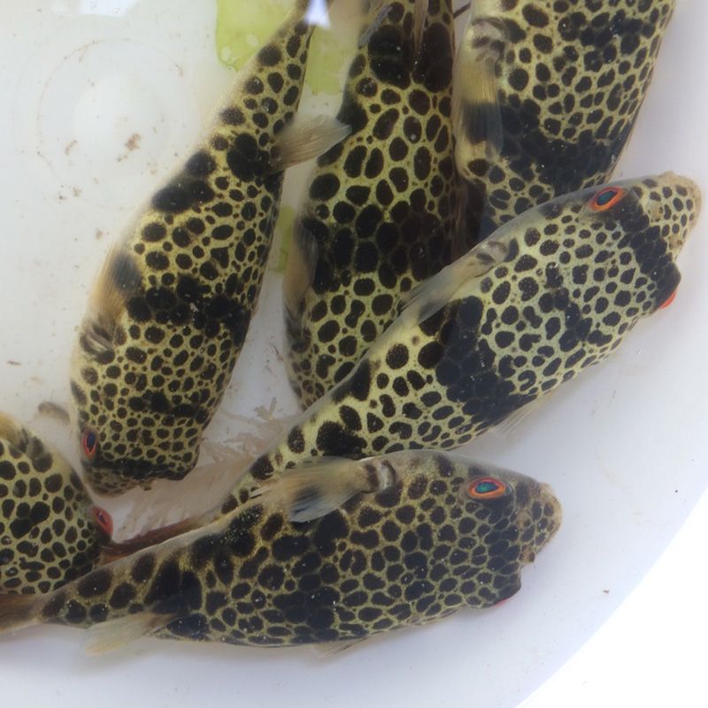
<path fill-rule="evenodd" d="M 700 208 L 695 182 L 663 173 L 559 196 L 537 214 L 542 234 L 553 229 L 571 292 L 598 287 L 608 312 L 633 322 L 673 299 L 681 281 L 676 258 Z"/>

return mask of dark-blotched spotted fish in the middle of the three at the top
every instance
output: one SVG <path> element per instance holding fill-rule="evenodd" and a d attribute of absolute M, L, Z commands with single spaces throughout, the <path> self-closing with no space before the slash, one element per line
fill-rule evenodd
<path fill-rule="evenodd" d="M 453 259 L 450 5 L 374 3 L 361 35 L 337 116 L 352 132 L 318 160 L 284 281 L 286 361 L 304 404 L 351 371 L 402 293 Z"/>

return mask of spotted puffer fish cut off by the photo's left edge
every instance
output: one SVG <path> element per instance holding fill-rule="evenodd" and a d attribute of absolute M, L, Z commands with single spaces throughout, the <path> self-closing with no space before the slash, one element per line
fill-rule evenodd
<path fill-rule="evenodd" d="M 92 570 L 112 535 L 67 460 L 0 413 L 0 591 L 46 593 Z"/>

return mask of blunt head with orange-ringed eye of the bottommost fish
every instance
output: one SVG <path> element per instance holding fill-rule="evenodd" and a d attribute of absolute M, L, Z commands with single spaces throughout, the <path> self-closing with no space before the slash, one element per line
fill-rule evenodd
<path fill-rule="evenodd" d="M 491 465 L 471 464 L 459 489 L 464 516 L 473 517 L 487 566 L 518 582 L 518 566 L 533 562 L 558 531 L 562 511 L 547 484 Z M 475 550 L 475 553 L 478 551 Z M 512 594 L 503 583 L 496 602 Z M 512 585 L 510 587 L 513 587 Z M 515 589 L 518 589 L 519 586 Z"/>

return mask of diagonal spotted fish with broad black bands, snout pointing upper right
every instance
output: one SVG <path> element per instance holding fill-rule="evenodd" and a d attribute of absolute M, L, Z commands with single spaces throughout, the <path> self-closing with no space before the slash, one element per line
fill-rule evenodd
<path fill-rule="evenodd" d="M 243 474 L 222 511 L 304 458 L 452 449 L 617 349 L 665 304 L 700 210 L 673 173 L 557 197 L 412 293 L 349 376 Z"/>

